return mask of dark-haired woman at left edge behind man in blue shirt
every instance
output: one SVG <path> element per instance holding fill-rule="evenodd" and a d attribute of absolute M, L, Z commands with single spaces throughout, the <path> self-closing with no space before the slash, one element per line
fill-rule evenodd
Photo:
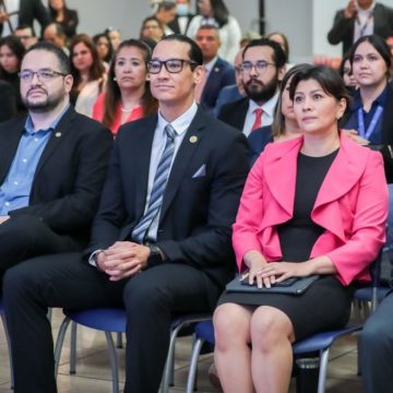
<path fill-rule="evenodd" d="M 0 80 L 8 82 L 12 86 L 19 114 L 25 114 L 26 111 L 21 98 L 19 79 L 24 52 L 25 48 L 16 36 L 10 35 L 0 38 Z"/>

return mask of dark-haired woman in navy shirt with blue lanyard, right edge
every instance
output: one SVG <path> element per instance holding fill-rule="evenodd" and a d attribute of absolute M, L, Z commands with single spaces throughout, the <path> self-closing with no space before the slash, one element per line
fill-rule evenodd
<path fill-rule="evenodd" d="M 382 153 L 388 182 L 393 182 L 393 86 L 389 83 L 392 57 L 383 38 L 362 36 L 352 47 L 349 61 L 359 87 L 341 127 L 348 135 Z"/>

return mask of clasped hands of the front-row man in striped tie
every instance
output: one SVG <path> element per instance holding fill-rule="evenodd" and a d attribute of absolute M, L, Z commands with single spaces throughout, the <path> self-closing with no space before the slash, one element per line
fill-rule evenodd
<path fill-rule="evenodd" d="M 98 267 L 110 281 L 130 277 L 147 267 L 150 248 L 132 241 L 117 241 L 97 255 Z"/>

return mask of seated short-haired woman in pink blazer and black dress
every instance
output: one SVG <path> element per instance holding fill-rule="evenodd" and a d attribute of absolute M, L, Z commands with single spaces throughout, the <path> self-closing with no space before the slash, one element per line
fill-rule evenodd
<path fill-rule="evenodd" d="M 254 164 L 234 248 L 239 271 L 259 287 L 320 278 L 301 296 L 223 294 L 214 327 L 225 392 L 287 392 L 291 343 L 347 323 L 354 283 L 370 281 L 369 265 L 385 240 L 383 160 L 340 132 L 347 105 L 342 80 L 310 66 L 294 75 L 289 94 L 302 138 L 267 145 Z"/>

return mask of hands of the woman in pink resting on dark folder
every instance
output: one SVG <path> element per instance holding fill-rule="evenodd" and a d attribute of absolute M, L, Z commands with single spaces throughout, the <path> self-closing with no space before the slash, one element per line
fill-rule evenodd
<path fill-rule="evenodd" d="M 305 277 L 310 274 L 309 264 L 305 262 L 270 262 L 258 251 L 249 251 L 245 255 L 245 263 L 250 267 L 248 279 L 250 285 L 257 281 L 259 288 L 270 288 L 276 283 L 290 277 Z"/>

